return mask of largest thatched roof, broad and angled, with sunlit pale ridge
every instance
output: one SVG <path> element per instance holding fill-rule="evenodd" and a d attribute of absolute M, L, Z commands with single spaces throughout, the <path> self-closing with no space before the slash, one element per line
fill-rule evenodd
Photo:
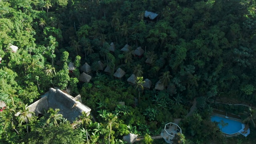
<path fill-rule="evenodd" d="M 76 99 L 61 90 L 50 88 L 48 95 L 28 106 L 28 110 L 35 112 L 36 116 L 38 116 L 38 114 L 43 114 L 44 109 L 47 111 L 49 108 L 58 108 L 60 109 L 59 114 L 62 114 L 63 118 L 72 123 L 82 115 L 82 112 L 90 114 L 91 111 L 88 106 L 76 101 Z M 19 113 L 15 115 L 17 116 Z"/>

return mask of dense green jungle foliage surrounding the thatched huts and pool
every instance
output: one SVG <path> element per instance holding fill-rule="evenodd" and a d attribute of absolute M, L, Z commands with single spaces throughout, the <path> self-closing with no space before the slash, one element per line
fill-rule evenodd
<path fill-rule="evenodd" d="M 131 132 L 147 134 L 142 143 L 158 144 L 163 140 L 148 135 L 182 118 L 184 135 L 177 142 L 232 143 L 209 118 L 213 108 L 235 114 L 246 109 L 216 99 L 256 102 L 255 7 L 255 0 L 0 0 L 0 101 L 7 105 L 0 112 L 0 142 L 122 144 Z M 148 20 L 145 10 L 158 17 Z M 18 46 L 16 53 L 10 44 Z M 120 51 L 125 44 L 130 52 Z M 133 54 L 139 46 L 141 57 Z M 110 75 L 98 71 L 99 60 Z M 78 81 L 85 62 L 92 68 L 89 83 Z M 112 76 L 118 68 L 126 72 L 120 80 Z M 128 84 L 132 74 L 150 79 L 152 88 L 144 89 L 142 79 L 139 86 Z M 154 89 L 159 80 L 162 91 Z M 96 122 L 73 130 L 63 118 L 46 123 L 47 112 L 26 119 L 25 104 L 50 87 L 80 94 Z M 194 99 L 196 113 L 186 117 Z M 14 116 L 19 111 L 23 116 Z M 252 142 L 253 134 L 252 128 L 244 140 Z"/>

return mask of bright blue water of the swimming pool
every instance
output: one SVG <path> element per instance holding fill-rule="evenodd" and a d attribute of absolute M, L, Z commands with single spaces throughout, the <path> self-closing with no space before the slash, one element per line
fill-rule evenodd
<path fill-rule="evenodd" d="M 212 122 L 219 122 L 218 127 L 220 130 L 226 134 L 235 134 L 242 129 L 242 123 L 228 118 L 222 118 L 219 116 L 211 116 Z M 222 124 L 224 127 L 222 128 Z"/>

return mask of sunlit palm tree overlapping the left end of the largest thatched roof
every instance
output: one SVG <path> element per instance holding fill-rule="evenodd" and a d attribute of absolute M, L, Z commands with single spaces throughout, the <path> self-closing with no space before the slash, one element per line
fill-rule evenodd
<path fill-rule="evenodd" d="M 20 116 L 19 118 L 20 124 L 22 124 L 22 122 L 26 122 L 27 132 L 28 132 L 28 122 L 31 116 L 34 114 L 34 112 L 30 112 L 27 107 L 28 107 L 28 104 L 24 104 L 24 103 L 20 104 L 19 106 L 20 110 L 19 110 L 18 116 Z"/>

